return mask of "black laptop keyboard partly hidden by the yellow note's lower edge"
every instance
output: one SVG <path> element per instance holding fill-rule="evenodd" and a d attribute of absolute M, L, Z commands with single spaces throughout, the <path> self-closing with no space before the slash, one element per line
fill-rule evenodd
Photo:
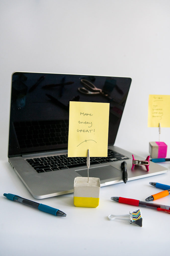
<path fill-rule="evenodd" d="M 90 165 L 129 159 L 116 151 L 108 149 L 107 157 L 90 157 Z M 37 173 L 51 172 L 67 168 L 86 166 L 86 157 L 68 157 L 67 155 L 29 158 L 26 161 Z"/>

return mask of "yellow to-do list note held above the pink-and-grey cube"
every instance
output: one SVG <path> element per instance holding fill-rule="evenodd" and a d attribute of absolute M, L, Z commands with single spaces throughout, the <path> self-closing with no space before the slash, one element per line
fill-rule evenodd
<path fill-rule="evenodd" d="M 170 95 L 149 95 L 148 127 L 170 127 Z"/>

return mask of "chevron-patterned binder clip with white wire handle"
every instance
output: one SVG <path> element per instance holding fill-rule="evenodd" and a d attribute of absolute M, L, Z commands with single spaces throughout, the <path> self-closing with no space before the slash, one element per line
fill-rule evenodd
<path fill-rule="evenodd" d="M 109 220 L 114 220 L 114 219 L 129 219 L 129 223 L 132 224 L 136 224 L 139 227 L 142 227 L 142 214 L 141 214 L 141 210 L 137 210 L 137 211 L 133 211 L 133 212 L 129 212 L 129 214 L 126 215 L 112 215 L 110 214 L 108 216 Z"/>

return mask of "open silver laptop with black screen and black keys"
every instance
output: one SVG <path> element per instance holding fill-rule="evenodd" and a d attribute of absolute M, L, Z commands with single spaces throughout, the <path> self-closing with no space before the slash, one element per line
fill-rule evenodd
<path fill-rule="evenodd" d="M 102 93 L 84 87 L 88 81 Z M 89 176 L 101 186 L 162 174 L 167 168 L 150 162 L 132 168 L 132 153 L 114 145 L 131 78 L 81 74 L 14 72 L 11 77 L 9 163 L 37 199 L 72 193 L 74 178 L 87 176 L 85 157 L 67 157 L 69 102 L 109 102 L 108 157 L 91 157 Z M 84 88 L 84 89 L 83 89 Z M 98 90 L 99 91 L 99 90 Z M 142 160 L 134 154 L 135 159 Z"/>

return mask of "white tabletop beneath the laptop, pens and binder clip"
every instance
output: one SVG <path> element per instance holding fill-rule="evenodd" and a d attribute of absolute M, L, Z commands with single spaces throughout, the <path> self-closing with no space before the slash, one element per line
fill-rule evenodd
<path fill-rule="evenodd" d="M 140 152 L 137 152 L 138 154 Z M 142 154 L 142 152 L 141 152 Z M 147 155 L 146 152 L 145 155 Z M 168 169 L 170 162 L 162 164 Z M 165 174 L 100 188 L 97 208 L 75 207 L 73 193 L 34 199 L 7 161 L 0 162 L 1 180 L 1 255 L 153 255 L 167 253 L 169 248 L 169 214 L 142 208 L 142 227 L 128 220 L 108 220 L 109 214 L 124 215 L 139 207 L 120 204 L 112 196 L 145 199 L 161 190 L 149 182 L 170 184 L 169 170 Z M 58 208 L 66 217 L 38 211 L 8 200 L 4 193 Z M 154 201 L 155 202 L 155 201 Z M 170 197 L 156 200 L 170 205 Z"/>

